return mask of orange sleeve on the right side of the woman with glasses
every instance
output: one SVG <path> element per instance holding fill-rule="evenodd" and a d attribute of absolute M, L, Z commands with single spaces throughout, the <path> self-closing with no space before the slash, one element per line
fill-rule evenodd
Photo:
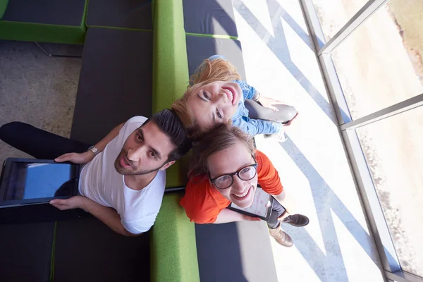
<path fill-rule="evenodd" d="M 283 190 L 281 178 L 279 178 L 278 171 L 276 171 L 270 159 L 264 153 L 257 150 L 256 160 L 257 164 L 259 164 L 257 167 L 259 185 L 271 195 L 281 194 Z"/>

